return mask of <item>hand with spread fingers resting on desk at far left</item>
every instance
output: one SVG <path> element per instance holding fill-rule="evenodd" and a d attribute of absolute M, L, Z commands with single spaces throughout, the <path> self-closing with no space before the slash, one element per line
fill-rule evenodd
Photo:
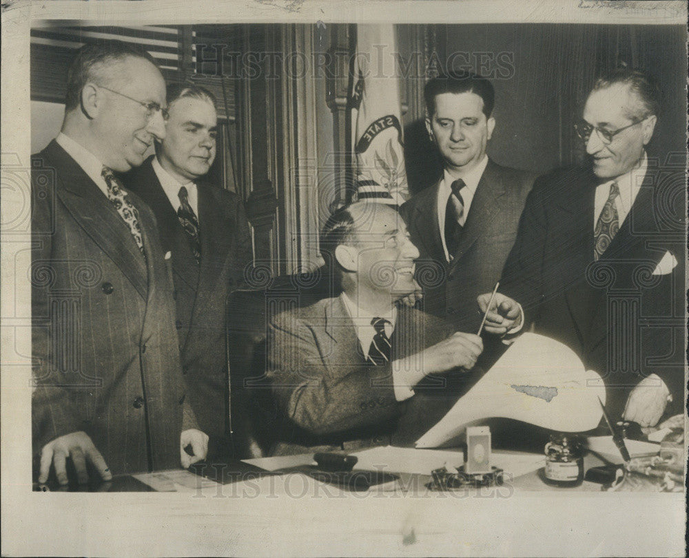
<path fill-rule="evenodd" d="M 110 469 L 107 468 L 107 464 L 101 452 L 96 449 L 96 446 L 94 446 L 93 441 L 87 433 L 79 431 L 55 438 L 52 442 L 48 442 L 48 444 L 43 446 L 43 450 L 41 450 L 39 482 L 41 484 L 48 482 L 50 464 L 53 464 L 55 467 L 55 474 L 57 475 L 57 482 L 62 485 L 67 484 L 68 477 L 65 464 L 68 457 L 72 458 L 79 484 L 86 484 L 88 482 L 86 460 L 89 460 L 93 466 L 96 467 L 96 471 L 98 471 L 103 480 L 112 480 L 112 473 L 110 473 Z"/>

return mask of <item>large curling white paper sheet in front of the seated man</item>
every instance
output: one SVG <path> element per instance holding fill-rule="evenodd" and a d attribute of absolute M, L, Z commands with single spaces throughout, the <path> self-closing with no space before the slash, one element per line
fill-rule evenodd
<path fill-rule="evenodd" d="M 562 432 L 597 427 L 605 402 L 601 377 L 563 343 L 524 333 L 450 411 L 416 441 L 440 447 L 469 423 L 502 417 Z"/>

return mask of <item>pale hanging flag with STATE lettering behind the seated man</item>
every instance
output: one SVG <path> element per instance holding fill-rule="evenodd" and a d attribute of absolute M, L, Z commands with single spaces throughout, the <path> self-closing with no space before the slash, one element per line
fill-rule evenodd
<path fill-rule="evenodd" d="M 404 169 L 400 82 L 393 25 L 357 25 L 350 96 L 356 199 L 402 205 L 409 199 Z"/>

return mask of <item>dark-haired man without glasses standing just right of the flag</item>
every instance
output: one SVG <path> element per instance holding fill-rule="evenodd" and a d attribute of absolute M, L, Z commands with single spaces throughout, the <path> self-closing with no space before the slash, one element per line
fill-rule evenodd
<path fill-rule="evenodd" d="M 500 279 L 535 176 L 486 155 L 495 128 L 495 93 L 486 78 L 439 76 L 426 83 L 424 97 L 443 173 L 401 212 L 421 253 L 424 310 L 475 331 L 482 319 L 476 297 Z"/>

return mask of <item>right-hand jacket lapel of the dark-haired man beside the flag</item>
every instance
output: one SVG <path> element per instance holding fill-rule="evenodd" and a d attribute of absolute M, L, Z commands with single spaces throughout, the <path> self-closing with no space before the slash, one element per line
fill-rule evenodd
<path fill-rule="evenodd" d="M 498 172 L 497 164 L 489 159 L 486 170 L 481 175 L 478 186 L 476 186 L 473 200 L 471 200 L 469 215 L 466 217 L 457 251 L 453 255 L 451 269 L 458 265 L 460 259 L 469 252 L 469 248 L 484 232 L 486 229 L 484 224 L 497 218 L 497 215 L 500 214 L 504 193 L 505 184 Z M 436 226 L 436 228 L 438 227 Z"/>

